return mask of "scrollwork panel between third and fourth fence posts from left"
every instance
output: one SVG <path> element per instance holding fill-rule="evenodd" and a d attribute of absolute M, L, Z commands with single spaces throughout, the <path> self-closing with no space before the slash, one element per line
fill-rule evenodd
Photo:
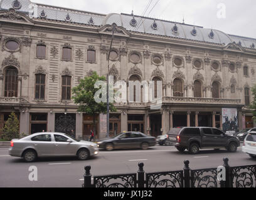
<path fill-rule="evenodd" d="M 200 169 L 191 171 L 191 187 L 220 187 L 217 169 Z"/>

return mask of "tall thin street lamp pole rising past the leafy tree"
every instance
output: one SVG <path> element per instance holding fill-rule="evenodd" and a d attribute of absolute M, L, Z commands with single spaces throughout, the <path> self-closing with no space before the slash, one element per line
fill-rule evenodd
<path fill-rule="evenodd" d="M 115 33 L 116 27 L 117 27 L 117 24 L 113 23 L 112 24 L 112 39 L 111 39 L 110 47 L 109 47 L 109 54 L 107 56 L 107 138 L 109 138 L 109 57 L 110 57 L 110 51 L 112 49 L 112 43 L 114 40 L 114 33 Z"/>

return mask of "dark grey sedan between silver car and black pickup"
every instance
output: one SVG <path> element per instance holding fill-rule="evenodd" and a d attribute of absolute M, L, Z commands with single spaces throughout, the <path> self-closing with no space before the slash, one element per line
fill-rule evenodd
<path fill-rule="evenodd" d="M 97 142 L 100 149 L 112 151 L 113 149 L 148 149 L 156 146 L 156 138 L 139 132 L 124 132 L 110 139 Z"/>

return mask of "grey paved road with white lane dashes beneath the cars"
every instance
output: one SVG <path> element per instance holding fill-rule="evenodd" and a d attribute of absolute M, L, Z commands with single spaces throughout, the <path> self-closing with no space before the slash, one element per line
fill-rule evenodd
<path fill-rule="evenodd" d="M 0 148 L 0 187 L 81 187 L 84 167 L 92 166 L 92 175 L 136 173 L 137 164 L 145 164 L 147 172 L 176 171 L 183 169 L 183 161 L 190 161 L 191 169 L 216 168 L 229 158 L 230 166 L 256 164 L 242 153 L 225 150 L 201 150 L 200 154 L 179 153 L 173 146 L 155 146 L 147 151 L 100 151 L 99 156 L 88 161 L 76 158 L 44 158 L 36 163 L 24 163 L 22 159 L 8 156 L 8 148 Z M 29 181 L 29 167 L 38 168 L 38 181 Z"/>

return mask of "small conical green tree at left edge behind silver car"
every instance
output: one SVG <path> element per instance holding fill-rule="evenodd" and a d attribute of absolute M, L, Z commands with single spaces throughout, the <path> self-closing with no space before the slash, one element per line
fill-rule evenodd
<path fill-rule="evenodd" d="M 19 138 L 19 120 L 15 113 L 9 115 L 8 121 L 1 130 L 3 132 L 1 138 L 6 141 L 11 141 L 14 138 Z"/>

